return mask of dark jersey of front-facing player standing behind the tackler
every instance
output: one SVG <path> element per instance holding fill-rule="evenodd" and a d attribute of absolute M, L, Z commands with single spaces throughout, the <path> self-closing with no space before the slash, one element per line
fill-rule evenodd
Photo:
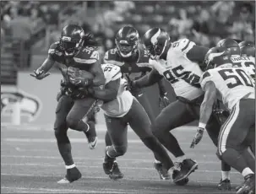
<path fill-rule="evenodd" d="M 131 80 L 139 78 L 144 73 L 151 71 L 149 61 L 150 55 L 143 49 L 139 49 L 139 57 L 129 57 L 128 59 L 121 57 L 117 53 L 116 48 L 106 51 L 104 57 L 105 63 L 111 63 L 121 67 L 121 72 L 126 74 Z"/>

